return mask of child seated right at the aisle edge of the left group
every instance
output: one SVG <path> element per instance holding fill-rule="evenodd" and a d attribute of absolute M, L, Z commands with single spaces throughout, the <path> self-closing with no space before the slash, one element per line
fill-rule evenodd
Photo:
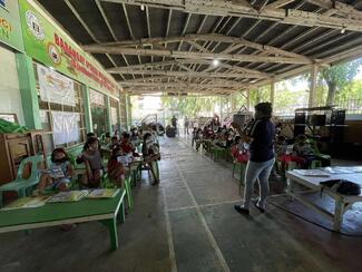
<path fill-rule="evenodd" d="M 159 159 L 159 154 L 155 150 L 154 147 L 154 139 L 151 137 L 150 133 L 146 133 L 144 136 L 144 143 L 143 143 L 143 156 L 144 156 L 144 164 L 150 169 L 154 183 L 153 185 L 159 184 L 159 177 L 158 174 L 156 174 L 156 167 L 157 167 L 157 159 Z"/>

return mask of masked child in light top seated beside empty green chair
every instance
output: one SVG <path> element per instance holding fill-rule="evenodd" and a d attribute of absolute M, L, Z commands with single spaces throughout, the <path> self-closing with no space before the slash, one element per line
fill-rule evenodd
<path fill-rule="evenodd" d="M 49 172 L 41 175 L 38 191 L 43 194 L 45 188 L 52 186 L 59 191 L 67 191 L 74 174 L 69 157 L 63 148 L 56 148 L 51 153 L 51 166 Z"/>

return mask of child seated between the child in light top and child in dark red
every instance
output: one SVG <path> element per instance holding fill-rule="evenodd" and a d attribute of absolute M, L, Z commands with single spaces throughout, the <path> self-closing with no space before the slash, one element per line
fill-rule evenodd
<path fill-rule="evenodd" d="M 82 161 L 86 165 L 86 175 L 82 176 L 81 183 L 90 188 L 99 187 L 104 166 L 99 152 L 99 140 L 96 137 L 87 140 Z"/>

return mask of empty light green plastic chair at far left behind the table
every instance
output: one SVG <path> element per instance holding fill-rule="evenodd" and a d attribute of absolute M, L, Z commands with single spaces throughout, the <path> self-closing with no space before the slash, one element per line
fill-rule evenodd
<path fill-rule="evenodd" d="M 2 206 L 2 195 L 4 192 L 17 192 L 19 198 L 31 194 L 31 192 L 27 194 L 27 191 L 32 191 L 32 187 L 39 183 L 38 164 L 41 162 L 43 162 L 42 155 L 30 156 L 21 161 L 17 178 L 0 186 L 0 207 Z M 31 164 L 31 174 L 29 178 L 22 178 L 23 168 L 29 163 Z"/>

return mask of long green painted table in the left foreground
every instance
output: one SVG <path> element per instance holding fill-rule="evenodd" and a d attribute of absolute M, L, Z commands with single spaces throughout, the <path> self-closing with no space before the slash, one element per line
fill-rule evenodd
<path fill-rule="evenodd" d="M 0 210 L 0 233 L 98 221 L 108 227 L 111 250 L 118 249 L 117 217 L 125 221 L 126 192 L 112 198 L 47 203 L 40 207 Z"/>

